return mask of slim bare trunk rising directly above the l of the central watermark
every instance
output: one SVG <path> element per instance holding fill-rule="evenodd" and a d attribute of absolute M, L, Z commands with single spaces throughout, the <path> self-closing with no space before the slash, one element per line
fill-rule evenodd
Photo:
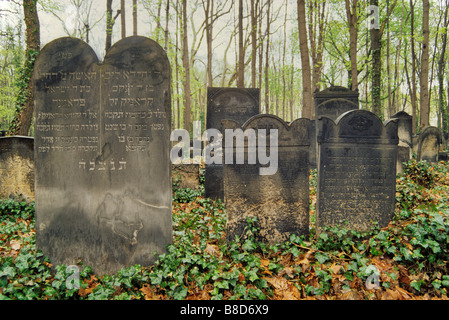
<path fill-rule="evenodd" d="M 190 131 L 190 59 L 187 38 L 187 0 L 182 0 L 181 54 L 184 67 L 184 129 Z"/>

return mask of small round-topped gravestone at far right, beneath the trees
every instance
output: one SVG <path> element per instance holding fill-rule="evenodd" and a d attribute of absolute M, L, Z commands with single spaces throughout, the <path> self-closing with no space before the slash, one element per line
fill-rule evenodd
<path fill-rule="evenodd" d="M 443 137 L 440 129 L 428 126 L 418 136 L 418 159 L 432 163 L 438 162 L 438 153 Z"/>

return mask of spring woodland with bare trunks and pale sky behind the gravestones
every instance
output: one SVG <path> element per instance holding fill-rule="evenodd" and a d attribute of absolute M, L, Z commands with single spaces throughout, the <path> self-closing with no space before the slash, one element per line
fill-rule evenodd
<path fill-rule="evenodd" d="M 448 7 L 445 0 L 0 0 L 0 129 L 33 133 L 29 80 L 45 43 L 78 37 L 101 58 L 137 34 L 169 56 L 174 128 L 200 120 L 204 129 L 208 86 L 260 88 L 260 112 L 291 121 L 314 116 L 314 91 L 341 85 L 357 89 L 361 108 L 382 119 L 404 110 L 414 133 L 429 124 L 447 133 Z"/>

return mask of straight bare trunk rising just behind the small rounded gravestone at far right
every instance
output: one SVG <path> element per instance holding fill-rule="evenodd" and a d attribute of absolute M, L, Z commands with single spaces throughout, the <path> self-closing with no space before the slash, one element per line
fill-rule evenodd
<path fill-rule="evenodd" d="M 423 0 L 423 42 L 421 55 L 421 77 L 420 77 L 420 123 L 421 129 L 429 125 L 429 0 Z"/>

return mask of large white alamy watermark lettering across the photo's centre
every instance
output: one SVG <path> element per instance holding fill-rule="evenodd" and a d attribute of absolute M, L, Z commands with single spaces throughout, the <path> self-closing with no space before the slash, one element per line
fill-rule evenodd
<path fill-rule="evenodd" d="M 190 134 L 185 129 L 176 129 L 170 135 L 172 142 L 178 141 L 170 152 L 172 163 L 206 164 L 260 164 L 260 175 L 273 175 L 278 169 L 278 130 L 270 129 L 225 129 L 224 135 L 218 129 L 207 129 L 201 134 L 200 121 L 193 123 L 193 147 L 190 147 Z M 223 154 L 223 139 L 224 154 Z M 269 140 L 269 143 L 267 143 Z M 234 144 L 235 141 L 235 144 Z M 205 142 L 202 148 L 202 142 Z M 246 148 L 245 148 L 246 147 Z M 190 158 L 193 149 L 193 158 Z M 234 157 L 235 150 L 235 157 Z"/>

